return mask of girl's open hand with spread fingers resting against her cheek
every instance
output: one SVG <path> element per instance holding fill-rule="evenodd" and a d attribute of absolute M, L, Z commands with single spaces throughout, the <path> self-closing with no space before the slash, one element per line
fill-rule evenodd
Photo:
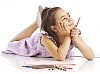
<path fill-rule="evenodd" d="M 68 29 L 67 25 L 65 25 L 62 21 L 57 22 L 57 30 L 58 34 L 61 36 L 70 36 L 70 30 Z"/>

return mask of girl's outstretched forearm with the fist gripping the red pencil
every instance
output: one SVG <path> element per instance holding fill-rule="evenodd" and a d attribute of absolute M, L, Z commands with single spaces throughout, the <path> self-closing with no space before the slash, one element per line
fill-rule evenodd
<path fill-rule="evenodd" d="M 72 41 L 76 44 L 76 46 L 78 47 L 78 49 L 81 51 L 81 53 L 86 59 L 93 60 L 94 58 L 93 50 L 85 44 L 81 36 L 78 34 L 79 34 L 79 30 L 77 29 L 77 27 L 75 27 L 71 32 L 71 36 L 73 36 Z"/>

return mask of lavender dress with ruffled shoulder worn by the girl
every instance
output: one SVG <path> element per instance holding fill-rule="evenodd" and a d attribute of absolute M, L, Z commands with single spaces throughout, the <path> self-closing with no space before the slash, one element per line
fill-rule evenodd
<path fill-rule="evenodd" d="M 34 36 L 27 37 L 19 41 L 9 42 L 6 51 L 3 51 L 3 53 L 16 54 L 20 56 L 51 57 L 47 49 L 41 44 L 42 34 L 46 34 L 47 37 L 56 44 L 52 37 L 48 36 L 46 32 L 42 31 Z M 70 50 L 68 51 L 66 57 L 73 56 L 73 47 L 74 44 L 71 44 L 69 48 Z"/>

